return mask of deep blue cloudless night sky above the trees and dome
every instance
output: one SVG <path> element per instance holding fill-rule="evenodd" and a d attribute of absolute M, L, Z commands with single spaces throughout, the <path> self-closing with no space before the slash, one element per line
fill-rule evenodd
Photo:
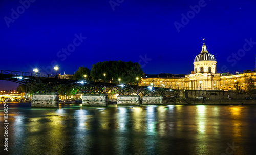
<path fill-rule="evenodd" d="M 200 11 L 178 32 L 175 21 L 182 24 L 182 14 L 187 16 L 190 6 L 199 3 Z M 250 50 L 245 53 L 240 51 L 236 64 L 232 53 L 243 49 L 245 39 L 256 42 L 255 4 L 252 0 L 124 0 L 113 10 L 109 0 L 37 0 L 22 10 L 18 0 L 1 0 L 0 69 L 31 72 L 37 67 L 46 72 L 44 68 L 52 68 L 51 62 L 57 61 L 62 74 L 73 74 L 82 65 L 91 68 L 108 60 L 139 62 L 146 55 L 152 59 L 143 67 L 147 74 L 189 74 L 203 38 L 216 57 L 218 73 L 227 71 L 221 69 L 223 65 L 231 73 L 254 69 L 256 44 L 246 46 Z M 12 9 L 17 8 L 21 14 L 12 20 Z M 6 23 L 7 18 L 14 22 Z M 87 38 L 66 58 L 58 57 L 58 51 L 73 43 L 75 34 Z M 7 89 L 5 83 L 0 81 L 0 89 Z"/>

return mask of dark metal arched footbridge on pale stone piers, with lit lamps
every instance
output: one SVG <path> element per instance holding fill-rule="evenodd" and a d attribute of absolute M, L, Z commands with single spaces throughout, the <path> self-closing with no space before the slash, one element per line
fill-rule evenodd
<path fill-rule="evenodd" d="M 145 99 L 147 98 L 148 102 L 151 102 L 152 104 L 155 103 L 155 100 L 157 103 L 162 102 L 162 98 L 159 97 L 179 97 L 179 94 L 176 93 L 175 90 L 170 90 L 167 88 L 138 86 L 130 83 L 106 83 L 86 80 L 78 81 L 71 79 L 60 79 L 52 74 L 40 74 L 22 71 L 0 70 L 0 80 L 11 81 L 27 86 L 31 92 L 34 92 L 34 95 L 32 96 L 32 104 L 33 98 L 34 101 L 36 100 L 37 104 L 41 102 L 41 99 L 46 100 L 46 104 L 49 105 L 50 103 L 58 104 L 58 94 L 56 93 L 61 88 L 69 85 L 72 85 L 79 90 L 80 93 L 84 94 L 84 105 L 91 105 L 91 103 L 99 101 L 104 102 L 103 105 L 105 106 L 106 94 L 109 92 L 119 95 L 120 104 L 124 104 L 126 102 L 131 102 L 136 105 L 140 104 L 140 99 L 138 97 L 144 97 Z M 154 101 L 152 102 L 152 100 Z"/>

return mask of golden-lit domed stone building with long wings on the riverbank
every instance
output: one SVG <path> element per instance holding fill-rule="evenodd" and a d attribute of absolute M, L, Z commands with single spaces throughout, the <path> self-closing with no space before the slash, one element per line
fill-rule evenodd
<path fill-rule="evenodd" d="M 194 71 L 189 75 L 184 76 L 143 76 L 140 80 L 140 85 L 165 87 L 173 89 L 191 89 L 191 90 L 233 90 L 234 83 L 238 83 L 242 89 L 245 88 L 246 79 L 252 78 L 256 80 L 256 72 L 250 70 L 244 73 L 220 74 L 217 73 L 217 61 L 214 55 L 207 51 L 205 43 L 202 46 L 201 52 L 194 59 Z M 166 76 L 167 75 L 167 76 Z M 256 83 L 254 82 L 254 85 Z"/>

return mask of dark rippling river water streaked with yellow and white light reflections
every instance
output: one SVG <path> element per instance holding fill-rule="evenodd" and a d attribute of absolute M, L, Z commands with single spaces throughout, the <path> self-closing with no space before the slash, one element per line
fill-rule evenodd
<path fill-rule="evenodd" d="M 256 106 L 15 105 L 8 117 L 0 154 L 256 154 Z"/>

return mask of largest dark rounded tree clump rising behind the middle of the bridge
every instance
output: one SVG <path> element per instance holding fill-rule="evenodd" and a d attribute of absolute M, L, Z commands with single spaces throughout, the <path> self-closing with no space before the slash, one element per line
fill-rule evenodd
<path fill-rule="evenodd" d="M 105 77 L 103 74 L 106 74 Z M 138 82 L 142 76 L 142 69 L 137 62 L 124 61 L 104 61 L 92 65 L 91 77 L 93 80 L 105 79 L 118 81 L 122 83 Z"/>

